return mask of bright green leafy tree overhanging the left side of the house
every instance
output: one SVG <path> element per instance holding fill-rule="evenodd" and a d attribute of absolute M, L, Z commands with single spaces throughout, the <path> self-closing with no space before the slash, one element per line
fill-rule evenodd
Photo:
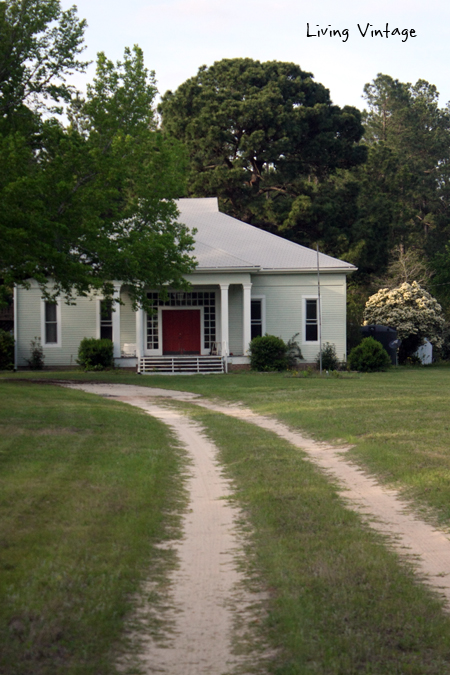
<path fill-rule="evenodd" d="M 85 66 L 75 10 L 62 12 L 58 0 L 3 4 L 2 34 L 27 36 L 20 54 L 5 49 L 0 62 L 4 284 L 33 277 L 44 289 L 52 279 L 53 292 L 70 301 L 91 289 L 109 293 L 117 279 L 137 304 L 148 286 L 183 286 L 194 265 L 173 202 L 183 153 L 157 128 L 155 79 L 142 51 L 126 49 L 117 64 L 99 54 L 82 98 L 64 81 Z M 66 125 L 54 115 L 61 103 Z"/>

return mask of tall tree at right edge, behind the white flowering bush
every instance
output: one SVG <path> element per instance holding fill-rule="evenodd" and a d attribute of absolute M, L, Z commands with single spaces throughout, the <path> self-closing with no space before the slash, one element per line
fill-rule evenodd
<path fill-rule="evenodd" d="M 434 85 L 379 74 L 364 88 L 368 161 L 357 171 L 358 261 L 381 274 L 392 252 L 415 248 L 429 261 L 442 247 L 449 220 L 450 115 Z"/>

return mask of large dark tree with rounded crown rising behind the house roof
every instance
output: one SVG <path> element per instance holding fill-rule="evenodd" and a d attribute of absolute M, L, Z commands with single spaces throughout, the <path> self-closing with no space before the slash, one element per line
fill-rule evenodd
<path fill-rule="evenodd" d="M 299 243 L 345 239 L 354 185 L 333 176 L 365 159 L 361 114 L 333 105 L 311 73 L 223 59 L 167 92 L 159 111 L 187 148 L 190 195 L 218 196 L 230 215 Z"/>

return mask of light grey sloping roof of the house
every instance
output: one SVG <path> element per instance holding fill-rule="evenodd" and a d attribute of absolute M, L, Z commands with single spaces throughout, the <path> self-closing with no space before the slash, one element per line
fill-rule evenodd
<path fill-rule="evenodd" d="M 219 211 L 216 197 L 178 199 L 179 221 L 197 230 L 197 270 L 313 271 L 317 252 Z M 319 253 L 322 271 L 351 272 L 354 265 Z"/>

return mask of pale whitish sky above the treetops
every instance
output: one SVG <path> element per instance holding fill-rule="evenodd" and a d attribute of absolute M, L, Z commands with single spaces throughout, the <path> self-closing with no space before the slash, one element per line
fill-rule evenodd
<path fill-rule="evenodd" d="M 448 0 L 62 0 L 61 4 L 64 9 L 76 4 L 79 17 L 87 21 L 85 58 L 95 61 L 103 51 L 117 61 L 125 47 L 138 44 L 146 66 L 155 71 L 160 94 L 174 91 L 202 65 L 249 57 L 300 65 L 330 90 L 339 106 L 364 108 L 364 85 L 378 73 L 401 82 L 427 80 L 436 85 L 441 107 L 450 101 Z M 371 36 L 371 31 L 385 30 L 386 24 L 388 37 Z M 395 29 L 400 34 L 393 34 Z M 341 34 L 330 35 L 330 30 Z M 84 89 L 94 70 L 92 65 L 86 75 L 75 75 L 73 83 Z"/>

